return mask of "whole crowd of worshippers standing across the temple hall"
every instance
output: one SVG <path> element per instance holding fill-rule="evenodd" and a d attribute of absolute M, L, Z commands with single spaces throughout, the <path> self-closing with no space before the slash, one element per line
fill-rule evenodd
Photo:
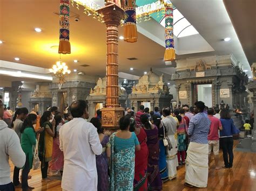
<path fill-rule="evenodd" d="M 85 120 L 89 114 L 82 100 L 64 115 L 57 107 L 41 117 L 19 108 L 11 121 L 6 111 L 0 103 L 0 190 L 34 189 L 28 179 L 36 145 L 42 182 L 62 176 L 63 190 L 162 190 L 164 182 L 177 178 L 181 165 L 185 186 L 205 188 L 212 151 L 215 169 L 221 168 L 220 144 L 223 168 L 233 165 L 234 122 L 228 110 L 206 109 L 201 101 L 173 111 L 127 108 L 120 130 L 110 137 L 104 135 L 99 111 L 90 122 Z M 9 157 L 15 165 L 13 183 Z"/>

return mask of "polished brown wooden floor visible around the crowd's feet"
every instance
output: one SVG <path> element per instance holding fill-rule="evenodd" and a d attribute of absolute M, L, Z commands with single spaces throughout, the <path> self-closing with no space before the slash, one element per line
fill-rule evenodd
<path fill-rule="evenodd" d="M 234 142 L 236 145 L 237 140 Z M 220 152 L 220 159 L 223 161 L 223 155 Z M 14 166 L 11 164 L 11 171 Z M 211 169 L 208 174 L 207 188 L 187 188 L 184 186 L 185 165 L 178 169 L 176 180 L 167 181 L 163 185 L 163 190 L 255 190 L 256 189 L 256 153 L 238 152 L 234 148 L 234 162 L 232 169 L 220 169 L 216 171 L 214 168 L 214 160 L 211 160 Z M 11 172 L 11 175 L 12 175 Z M 49 183 L 41 182 L 41 171 L 31 171 L 32 179 L 29 185 L 35 187 L 35 190 L 62 190 L 59 180 L 52 180 Z M 16 189 L 22 190 L 22 189 Z"/>

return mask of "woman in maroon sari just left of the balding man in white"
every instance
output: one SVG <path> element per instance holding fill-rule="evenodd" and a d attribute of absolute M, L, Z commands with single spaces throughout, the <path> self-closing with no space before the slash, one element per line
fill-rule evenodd
<path fill-rule="evenodd" d="M 64 154 L 59 149 L 59 129 L 61 128 L 62 116 L 56 115 L 55 136 L 53 137 L 52 160 L 49 162 L 50 174 L 53 176 L 62 175 L 64 167 Z"/>

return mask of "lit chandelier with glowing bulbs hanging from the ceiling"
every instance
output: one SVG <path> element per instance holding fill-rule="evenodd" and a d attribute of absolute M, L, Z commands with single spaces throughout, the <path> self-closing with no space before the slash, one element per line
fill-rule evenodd
<path fill-rule="evenodd" d="M 56 65 L 52 66 L 50 72 L 59 80 L 59 89 L 61 89 L 62 84 L 65 83 L 65 75 L 71 73 L 68 66 L 66 66 L 66 63 L 62 62 L 61 60 L 56 62 Z"/>

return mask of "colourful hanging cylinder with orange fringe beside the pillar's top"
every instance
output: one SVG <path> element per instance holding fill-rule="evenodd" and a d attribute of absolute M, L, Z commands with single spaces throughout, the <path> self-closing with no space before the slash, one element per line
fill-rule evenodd
<path fill-rule="evenodd" d="M 124 5 L 124 41 L 137 42 L 135 0 L 126 0 Z"/>

